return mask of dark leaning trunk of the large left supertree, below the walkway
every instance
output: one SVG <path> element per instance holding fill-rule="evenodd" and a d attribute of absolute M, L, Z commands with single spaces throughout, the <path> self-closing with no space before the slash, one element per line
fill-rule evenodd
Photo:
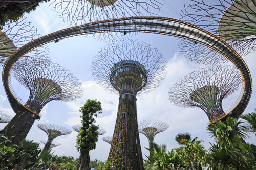
<path fill-rule="evenodd" d="M 12 144 L 19 144 L 25 139 L 37 116 L 28 113 L 16 113 L 12 120 L 5 126 L 4 132 L 7 136 L 14 136 Z"/>

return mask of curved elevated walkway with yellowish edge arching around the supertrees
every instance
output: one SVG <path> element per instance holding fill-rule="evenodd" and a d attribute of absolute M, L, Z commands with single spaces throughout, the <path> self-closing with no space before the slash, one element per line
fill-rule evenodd
<path fill-rule="evenodd" d="M 54 42 L 60 38 L 68 38 L 77 35 L 124 31 L 155 33 L 189 39 L 198 45 L 201 44 L 207 48 L 211 48 L 212 51 L 216 51 L 218 54 L 226 57 L 236 67 L 238 67 L 243 79 L 242 91 L 237 101 L 230 109 L 226 111 L 226 113 L 231 117 L 239 117 L 239 115 L 244 112 L 251 97 L 252 80 L 250 71 L 242 57 L 236 51 L 234 51 L 230 45 L 228 45 L 218 36 L 211 34 L 190 23 L 164 17 L 129 17 L 87 23 L 81 26 L 59 30 L 24 45 L 14 54 L 12 54 L 12 56 L 7 60 L 2 74 L 3 85 L 12 108 L 14 110 L 18 109 L 33 113 L 33 111 L 29 110 L 22 103 L 17 101 L 17 96 L 11 88 L 9 72 L 17 59 L 31 52 L 37 47 L 50 42 Z M 204 57 L 205 56 L 203 55 L 202 59 Z M 211 58 L 216 59 L 216 56 L 211 56 Z"/>

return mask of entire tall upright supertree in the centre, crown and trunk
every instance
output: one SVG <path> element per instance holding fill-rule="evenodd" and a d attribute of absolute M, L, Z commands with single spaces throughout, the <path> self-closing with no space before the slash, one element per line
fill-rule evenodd
<path fill-rule="evenodd" d="M 119 105 L 108 161 L 115 169 L 143 169 L 136 96 L 155 89 L 165 77 L 162 54 L 150 44 L 113 42 L 92 63 L 94 79 L 106 90 L 119 93 Z"/>

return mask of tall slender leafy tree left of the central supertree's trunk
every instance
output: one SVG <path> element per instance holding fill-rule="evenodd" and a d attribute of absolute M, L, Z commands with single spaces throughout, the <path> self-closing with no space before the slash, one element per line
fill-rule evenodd
<path fill-rule="evenodd" d="M 82 126 L 76 140 L 76 148 L 80 152 L 76 169 L 88 170 L 90 163 L 89 152 L 96 148 L 96 142 L 98 141 L 99 127 L 94 125 L 96 122 L 94 117 L 97 117 L 97 113 L 102 113 L 101 103 L 97 100 L 88 99 L 79 111 L 82 113 L 80 116 L 82 118 Z"/>

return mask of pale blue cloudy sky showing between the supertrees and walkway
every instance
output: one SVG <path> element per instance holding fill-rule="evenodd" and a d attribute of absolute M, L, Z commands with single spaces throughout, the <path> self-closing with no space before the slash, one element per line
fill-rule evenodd
<path fill-rule="evenodd" d="M 179 2 L 179 3 L 177 3 Z M 67 28 L 68 26 L 56 15 L 49 4 L 42 4 L 35 11 L 27 14 L 28 19 L 34 23 L 35 27 L 42 35 Z M 173 1 L 166 3 L 163 11 L 159 12 L 159 16 L 167 16 L 179 18 L 180 9 L 183 7 L 183 1 Z M 180 53 L 175 37 L 168 37 L 154 34 L 139 33 L 132 37 L 133 40 L 145 41 L 163 54 L 167 63 L 166 79 L 156 90 L 151 93 L 138 96 L 137 98 L 137 113 L 138 120 L 156 119 L 162 120 L 169 124 L 169 128 L 155 137 L 155 142 L 158 144 L 166 144 L 167 149 L 178 147 L 175 141 L 175 136 L 180 132 L 190 132 L 192 137 L 199 137 L 203 140 L 206 148 L 210 146 L 209 142 L 213 142 L 209 137 L 206 127 L 208 118 L 206 114 L 199 108 L 181 108 L 173 105 L 168 101 L 168 91 L 172 85 L 180 78 L 189 74 L 189 72 L 198 70 L 204 65 L 198 65 L 189 62 Z M 96 84 L 91 74 L 91 62 L 93 56 L 98 50 L 101 50 L 106 45 L 106 42 L 99 42 L 96 39 L 86 36 L 76 36 L 68 39 L 63 39 L 58 43 L 48 44 L 51 59 L 55 63 L 69 69 L 81 81 L 84 94 L 82 98 L 73 102 L 56 102 L 52 101 L 47 104 L 41 111 L 41 119 L 34 123 L 27 139 L 39 142 L 47 140 L 45 132 L 37 128 L 38 123 L 53 123 L 64 126 L 72 130 L 72 126 L 80 123 L 79 107 L 82 106 L 87 99 L 97 99 L 102 103 L 103 114 L 97 118 L 97 125 L 106 130 L 106 134 L 99 136 L 95 150 L 90 152 L 91 159 L 106 160 L 110 150 L 110 145 L 102 141 L 104 136 L 112 136 L 116 121 L 118 108 L 118 95 L 105 91 L 101 86 Z M 256 52 L 244 57 L 247 63 L 253 82 L 256 80 L 256 68 L 254 63 Z M 1 80 L 2 81 L 2 80 Z M 21 87 L 15 81 L 13 87 L 16 93 L 26 101 L 29 91 Z M 241 89 L 241 88 L 240 88 Z M 240 90 L 239 89 L 239 90 Z M 223 101 L 223 108 L 227 110 L 237 100 L 239 91 L 234 93 L 230 98 Z M 256 106 L 256 97 L 253 95 L 244 113 L 252 112 Z M 0 110 L 14 115 L 6 94 L 3 88 L 0 89 Z M 0 124 L 0 129 L 6 124 Z M 53 143 L 60 143 L 61 146 L 53 148 L 56 155 L 71 155 L 75 158 L 79 157 L 76 151 L 77 132 L 72 132 L 70 135 L 64 135 L 54 139 Z M 254 135 L 247 141 L 256 144 Z M 140 135 L 141 148 L 143 155 L 147 155 L 148 147 L 147 138 Z M 40 147 L 44 147 L 40 144 Z"/>

